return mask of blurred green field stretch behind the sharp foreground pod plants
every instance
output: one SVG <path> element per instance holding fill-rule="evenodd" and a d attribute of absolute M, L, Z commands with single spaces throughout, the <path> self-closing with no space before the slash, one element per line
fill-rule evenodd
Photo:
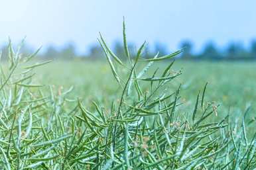
<path fill-rule="evenodd" d="M 160 70 L 166 64 L 155 65 Z M 181 96 L 184 108 L 192 111 L 196 95 L 208 82 L 206 99 L 220 104 L 220 115 L 229 111 L 231 115 L 243 116 L 245 108 L 251 105 L 251 116 L 256 109 L 256 63 L 249 62 L 182 62 L 177 61 L 174 71 L 182 69 L 182 75 L 170 83 L 173 91 L 182 84 Z M 54 61 L 38 69 L 41 84 L 56 88 L 74 86 L 74 97 L 81 97 L 90 103 L 108 103 L 120 92 L 113 79 L 111 69 L 105 62 Z"/>

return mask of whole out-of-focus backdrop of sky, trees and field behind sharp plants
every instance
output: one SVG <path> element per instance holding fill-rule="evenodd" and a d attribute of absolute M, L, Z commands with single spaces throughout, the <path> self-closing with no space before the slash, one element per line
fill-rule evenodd
<path fill-rule="evenodd" d="M 40 83 L 56 88 L 74 85 L 75 97 L 109 103 L 116 99 L 118 86 L 109 81 L 113 75 L 97 38 L 100 31 L 125 60 L 125 17 L 131 54 L 145 40 L 145 58 L 186 47 L 173 68 L 182 68 L 182 75 L 170 84 L 174 91 L 182 83 L 184 106 L 192 108 L 208 82 L 208 101 L 222 105 L 223 112 L 241 114 L 246 106 L 256 106 L 255 7 L 253 0 L 1 1 L 2 61 L 7 59 L 8 37 L 17 47 L 26 36 L 24 55 L 42 46 L 38 58 L 54 60 L 38 71 Z"/>

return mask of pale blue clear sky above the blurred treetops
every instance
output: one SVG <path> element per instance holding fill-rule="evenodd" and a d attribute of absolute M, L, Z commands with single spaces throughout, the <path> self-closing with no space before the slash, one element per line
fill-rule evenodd
<path fill-rule="evenodd" d="M 230 41 L 248 46 L 256 38 L 254 0 L 8 0 L 0 7 L 0 44 L 8 36 L 15 43 L 27 36 L 42 50 L 72 42 L 78 52 L 88 52 L 99 31 L 109 44 L 121 40 L 123 16 L 128 41 L 137 46 L 147 40 L 176 50 L 189 39 L 200 50 L 209 40 L 220 47 Z"/>

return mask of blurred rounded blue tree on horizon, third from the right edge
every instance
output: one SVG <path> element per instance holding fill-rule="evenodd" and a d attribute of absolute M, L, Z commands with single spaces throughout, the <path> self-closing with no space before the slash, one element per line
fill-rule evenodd
<path fill-rule="evenodd" d="M 207 42 L 204 47 L 204 52 L 202 53 L 201 58 L 204 59 L 220 59 L 221 56 L 218 52 L 218 48 L 216 47 L 216 44 L 214 42 Z"/>

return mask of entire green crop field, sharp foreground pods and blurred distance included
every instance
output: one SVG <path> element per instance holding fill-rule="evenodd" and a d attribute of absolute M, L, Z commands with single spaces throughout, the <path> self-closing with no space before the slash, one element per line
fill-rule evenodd
<path fill-rule="evenodd" d="M 255 169 L 255 63 L 1 63 L 0 169 Z M 18 48 L 19 49 L 19 48 Z"/>

